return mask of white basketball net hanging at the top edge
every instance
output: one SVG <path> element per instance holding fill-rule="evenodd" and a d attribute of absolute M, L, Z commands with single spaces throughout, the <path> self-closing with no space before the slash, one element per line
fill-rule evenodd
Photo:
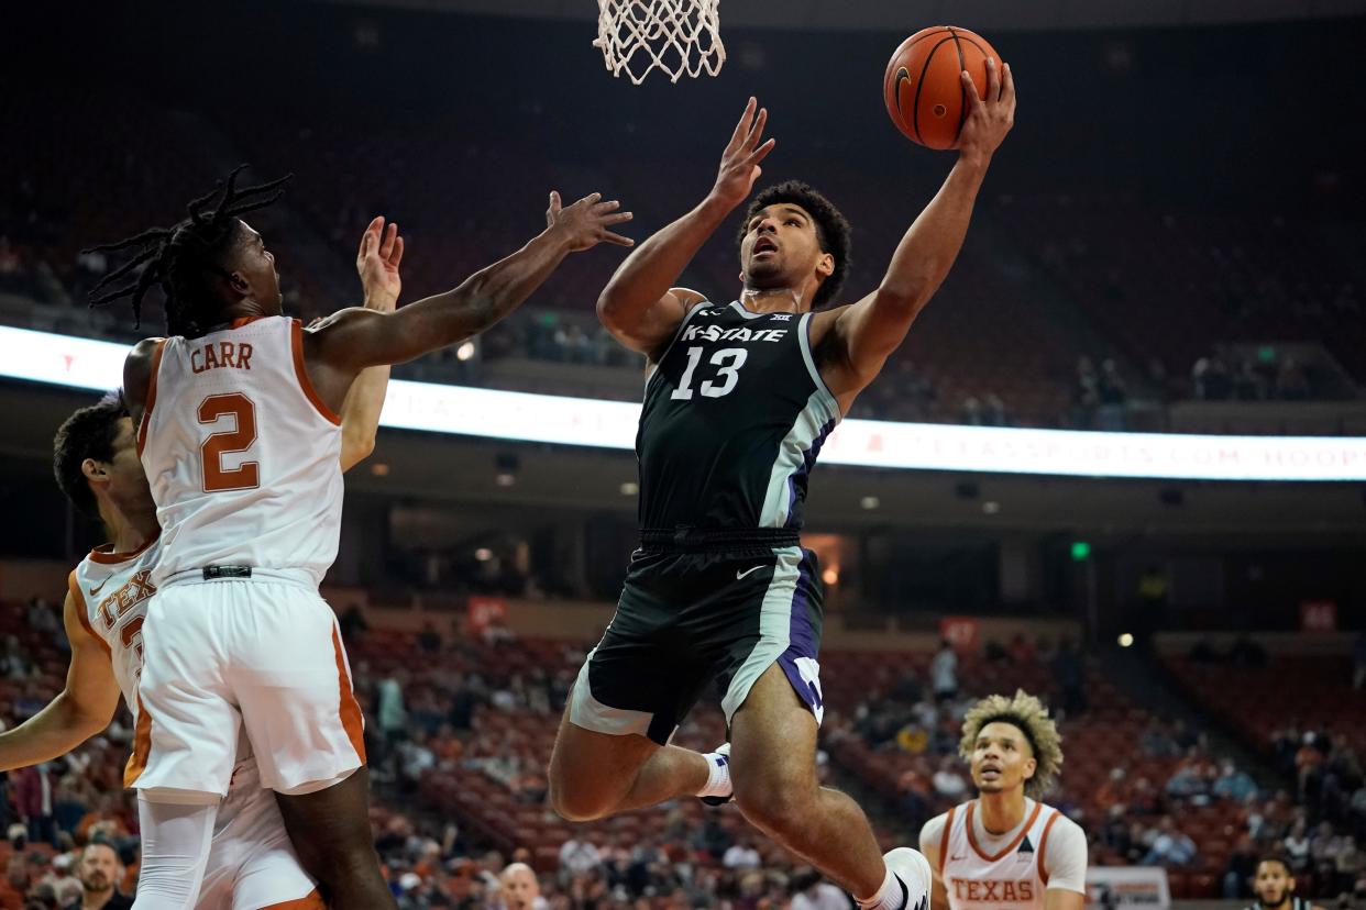
<path fill-rule="evenodd" d="M 684 72 L 714 76 L 725 63 L 720 0 L 598 0 L 593 46 L 612 75 L 641 85 L 653 70 L 678 82 Z"/>

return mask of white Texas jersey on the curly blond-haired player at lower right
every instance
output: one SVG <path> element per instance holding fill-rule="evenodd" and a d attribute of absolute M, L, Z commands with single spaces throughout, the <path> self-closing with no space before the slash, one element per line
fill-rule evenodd
<path fill-rule="evenodd" d="M 1086 834 L 1053 806 L 1024 801 L 1024 819 L 993 835 L 977 801 L 932 819 L 921 853 L 944 883 L 952 910 L 1042 910 L 1052 888 L 1086 894 Z"/>

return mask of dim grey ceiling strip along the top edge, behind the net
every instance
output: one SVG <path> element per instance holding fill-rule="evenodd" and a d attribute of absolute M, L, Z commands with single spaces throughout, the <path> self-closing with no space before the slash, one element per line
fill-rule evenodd
<path fill-rule="evenodd" d="M 320 0 L 474 15 L 594 22 L 594 0 Z M 721 29 L 1120 29 L 1322 19 L 1366 14 L 1366 0 L 721 0 Z"/>

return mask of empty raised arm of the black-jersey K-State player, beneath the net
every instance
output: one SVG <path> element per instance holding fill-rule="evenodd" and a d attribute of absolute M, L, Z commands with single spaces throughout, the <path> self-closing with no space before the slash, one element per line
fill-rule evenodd
<path fill-rule="evenodd" d="M 761 142 L 768 111 L 750 98 L 731 142 L 721 154 L 716 186 L 701 205 L 663 228 L 626 258 L 598 296 L 598 319 L 617 341 L 632 351 L 653 355 L 673 337 L 688 308 L 702 295 L 673 284 L 708 237 L 735 206 L 744 202 L 773 150 L 775 139 Z"/>

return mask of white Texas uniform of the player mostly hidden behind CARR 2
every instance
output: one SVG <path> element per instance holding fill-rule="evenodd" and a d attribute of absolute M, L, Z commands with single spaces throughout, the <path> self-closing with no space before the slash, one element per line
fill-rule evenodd
<path fill-rule="evenodd" d="M 161 538 L 131 553 L 96 547 L 67 581 L 76 618 L 108 651 L 119 690 L 133 712 L 137 733 L 124 786 L 133 786 L 141 775 L 150 746 L 152 715 L 142 709 L 138 681 L 143 667 L 142 625 L 157 593 L 152 574 L 161 548 Z M 228 794 L 214 820 L 195 910 L 320 910 L 322 906 L 285 834 L 275 794 L 261 786 L 250 742 L 240 737 Z"/>

